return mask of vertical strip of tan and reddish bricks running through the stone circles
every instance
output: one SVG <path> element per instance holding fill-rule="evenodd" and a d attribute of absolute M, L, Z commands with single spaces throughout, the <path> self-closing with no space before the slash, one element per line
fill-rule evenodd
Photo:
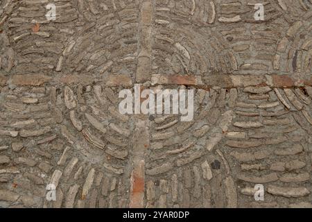
<path fill-rule="evenodd" d="M 139 55 L 137 58 L 137 73 L 135 83 L 144 83 L 150 80 L 152 58 L 152 0 L 143 0 L 140 11 L 139 24 Z M 130 205 L 131 208 L 144 207 L 145 191 L 145 155 L 150 146 L 148 117 L 135 115 L 135 130 L 132 148 L 132 173 L 130 179 Z"/>

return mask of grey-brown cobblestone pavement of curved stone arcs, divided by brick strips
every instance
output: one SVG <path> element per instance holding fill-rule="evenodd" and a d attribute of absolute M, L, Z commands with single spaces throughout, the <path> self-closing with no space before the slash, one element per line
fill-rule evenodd
<path fill-rule="evenodd" d="M 256 3 L 1 0 L 0 207 L 312 207 L 312 2 Z M 135 83 L 193 121 L 120 114 Z"/>

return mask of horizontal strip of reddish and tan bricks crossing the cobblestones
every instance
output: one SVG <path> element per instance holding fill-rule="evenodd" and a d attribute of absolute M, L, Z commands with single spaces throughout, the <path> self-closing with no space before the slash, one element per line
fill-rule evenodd
<path fill-rule="evenodd" d="M 201 88 L 234 88 L 248 86 L 270 86 L 277 88 L 312 86 L 312 76 L 291 75 L 233 75 L 220 74 L 209 76 L 186 76 L 186 75 L 162 75 L 154 74 L 151 77 L 152 85 L 191 85 Z M 0 76 L 0 86 L 41 86 L 55 84 L 80 84 L 93 85 L 104 83 L 107 87 L 132 87 L 133 81 L 126 74 L 105 76 L 105 78 L 92 78 L 88 75 L 58 75 L 46 76 L 43 74 L 25 74 L 15 76 Z"/>

